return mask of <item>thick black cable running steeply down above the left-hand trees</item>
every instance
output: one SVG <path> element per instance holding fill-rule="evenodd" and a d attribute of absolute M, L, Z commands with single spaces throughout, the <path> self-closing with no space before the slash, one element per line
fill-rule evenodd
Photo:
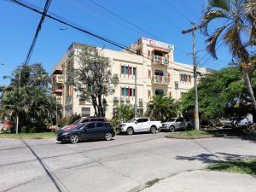
<path fill-rule="evenodd" d="M 44 5 L 44 11 L 43 11 L 42 16 L 41 16 L 41 19 L 40 19 L 40 21 L 39 21 L 39 23 L 38 23 L 38 27 L 37 27 L 36 33 L 35 33 L 35 35 L 34 35 L 34 38 L 33 38 L 33 40 L 32 40 L 32 44 L 31 44 L 31 46 L 30 46 L 30 49 L 28 50 L 28 53 L 27 53 L 27 55 L 26 55 L 25 64 L 27 64 L 27 63 L 30 61 L 30 58 L 31 58 L 33 49 L 35 48 L 35 44 L 36 44 L 37 39 L 38 39 L 38 34 L 39 34 L 39 32 L 41 31 L 41 27 L 42 27 L 42 24 L 44 23 L 45 15 L 46 15 L 47 12 L 48 12 L 50 3 L 51 3 L 51 0 L 46 0 L 46 3 L 45 3 L 45 5 Z"/>

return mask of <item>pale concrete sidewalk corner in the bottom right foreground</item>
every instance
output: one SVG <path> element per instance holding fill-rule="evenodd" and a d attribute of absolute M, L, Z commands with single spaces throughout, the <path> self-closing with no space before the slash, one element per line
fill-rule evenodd
<path fill-rule="evenodd" d="M 142 192 L 256 192 L 256 177 L 230 172 L 193 171 L 168 177 Z"/>

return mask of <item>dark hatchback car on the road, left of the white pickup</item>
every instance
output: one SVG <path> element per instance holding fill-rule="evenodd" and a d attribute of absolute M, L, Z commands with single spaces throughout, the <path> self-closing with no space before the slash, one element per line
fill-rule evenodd
<path fill-rule="evenodd" d="M 73 130 L 59 131 L 57 140 L 60 142 L 79 143 L 89 139 L 106 139 L 110 141 L 115 136 L 113 127 L 106 122 L 89 122 L 76 126 Z"/>

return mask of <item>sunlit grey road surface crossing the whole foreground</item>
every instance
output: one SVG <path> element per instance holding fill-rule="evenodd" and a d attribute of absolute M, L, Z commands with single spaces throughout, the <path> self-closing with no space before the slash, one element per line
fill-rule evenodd
<path fill-rule="evenodd" d="M 0 191 L 136 191 L 154 178 L 256 156 L 256 142 L 251 140 L 179 140 L 165 134 L 77 144 L 0 138 Z"/>

